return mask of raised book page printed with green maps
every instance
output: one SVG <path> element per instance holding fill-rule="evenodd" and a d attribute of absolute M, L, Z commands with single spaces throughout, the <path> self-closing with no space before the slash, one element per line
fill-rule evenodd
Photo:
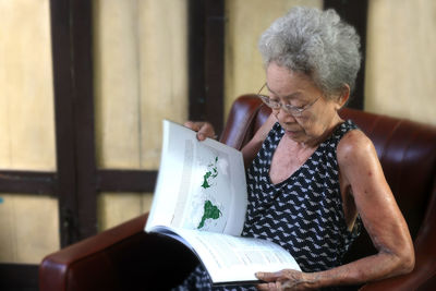
<path fill-rule="evenodd" d="M 242 154 L 169 121 L 146 231 L 155 226 L 239 235 L 246 210 Z"/>

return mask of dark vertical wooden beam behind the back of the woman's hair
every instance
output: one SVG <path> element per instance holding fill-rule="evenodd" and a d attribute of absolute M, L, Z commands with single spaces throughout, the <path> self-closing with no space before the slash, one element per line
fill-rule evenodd
<path fill-rule="evenodd" d="M 335 9 L 347 23 L 353 25 L 361 37 L 362 65 L 355 90 L 347 107 L 363 110 L 365 86 L 367 0 L 324 0 L 324 9 Z"/>

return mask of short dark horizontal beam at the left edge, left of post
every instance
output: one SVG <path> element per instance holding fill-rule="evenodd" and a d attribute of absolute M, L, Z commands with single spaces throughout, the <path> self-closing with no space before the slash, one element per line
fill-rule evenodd
<path fill-rule="evenodd" d="M 53 172 L 0 171 L 0 192 L 57 195 Z"/>

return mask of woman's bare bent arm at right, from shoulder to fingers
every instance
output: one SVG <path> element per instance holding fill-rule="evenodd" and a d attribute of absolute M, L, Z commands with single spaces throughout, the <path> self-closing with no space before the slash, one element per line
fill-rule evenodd
<path fill-rule="evenodd" d="M 261 274 L 271 282 L 262 290 L 317 289 L 358 284 L 410 272 L 414 266 L 413 243 L 408 226 L 386 182 L 372 142 L 360 131 L 347 134 L 338 145 L 338 162 L 364 227 L 377 254 L 326 271 L 302 274 L 282 270 Z"/>

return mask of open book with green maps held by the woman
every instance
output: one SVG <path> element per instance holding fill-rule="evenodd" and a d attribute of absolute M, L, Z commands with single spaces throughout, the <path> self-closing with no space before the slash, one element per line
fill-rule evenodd
<path fill-rule="evenodd" d="M 241 238 L 247 205 L 241 151 L 164 121 L 160 168 L 145 231 L 179 240 L 214 284 L 258 282 L 256 271 L 298 269 L 281 246 Z"/>

